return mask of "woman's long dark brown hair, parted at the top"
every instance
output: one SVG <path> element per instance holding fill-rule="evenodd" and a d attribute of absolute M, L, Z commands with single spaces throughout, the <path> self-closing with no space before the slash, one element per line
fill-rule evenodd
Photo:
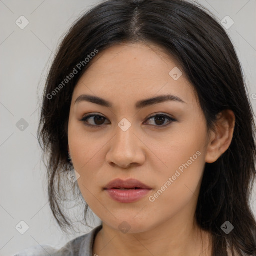
<path fill-rule="evenodd" d="M 183 0 L 108 0 L 81 16 L 62 40 L 47 76 L 37 131 L 49 153 L 48 198 L 59 226 L 72 226 L 62 209 L 67 191 L 61 186 L 70 169 L 72 92 L 91 63 L 86 56 L 122 42 L 155 43 L 178 61 L 196 91 L 208 129 L 222 110 L 234 112 L 229 148 L 214 163 L 205 163 L 195 218 L 212 234 L 214 256 L 227 255 L 227 246 L 232 255 L 256 255 L 256 222 L 249 206 L 256 175 L 255 123 L 241 66 L 224 28 L 202 6 Z M 74 69 L 74 77 L 65 80 Z M 86 204 L 85 221 L 87 209 Z M 221 229 L 226 221 L 234 226 L 228 234 Z"/>

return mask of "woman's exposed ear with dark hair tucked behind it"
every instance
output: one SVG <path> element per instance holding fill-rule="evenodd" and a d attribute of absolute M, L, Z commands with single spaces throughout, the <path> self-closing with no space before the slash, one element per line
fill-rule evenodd
<path fill-rule="evenodd" d="M 220 112 L 216 120 L 216 131 L 210 131 L 205 162 L 215 162 L 229 147 L 233 138 L 235 115 L 232 110 Z"/>

